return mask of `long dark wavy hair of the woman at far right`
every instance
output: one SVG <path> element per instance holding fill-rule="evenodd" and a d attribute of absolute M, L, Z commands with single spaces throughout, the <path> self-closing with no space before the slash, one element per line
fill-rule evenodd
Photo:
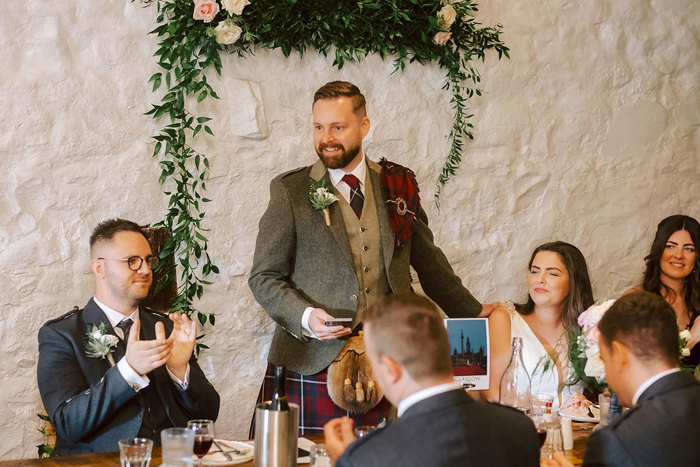
<path fill-rule="evenodd" d="M 656 227 L 656 236 L 651 244 L 651 250 L 644 258 L 647 267 L 644 271 L 642 287 L 644 290 L 662 297 L 662 292 L 670 295 L 671 302 L 675 300 L 675 292 L 661 282 L 661 256 L 664 254 L 668 239 L 679 230 L 688 232 L 696 247 L 695 267 L 688 277 L 685 278 L 682 290 L 688 318 L 690 318 L 690 323 L 692 324 L 693 320 L 700 315 L 700 274 L 698 274 L 698 270 L 700 270 L 700 255 L 697 254 L 697 246 L 700 243 L 700 223 L 697 220 L 690 216 L 676 214 L 659 222 L 659 225 Z"/>

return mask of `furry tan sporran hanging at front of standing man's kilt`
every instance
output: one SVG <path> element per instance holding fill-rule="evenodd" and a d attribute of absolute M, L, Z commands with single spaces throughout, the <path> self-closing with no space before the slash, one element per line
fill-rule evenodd
<path fill-rule="evenodd" d="M 384 394 L 374 380 L 362 331 L 359 334 L 348 339 L 328 366 L 326 385 L 335 405 L 350 412 L 367 413 L 379 404 Z"/>

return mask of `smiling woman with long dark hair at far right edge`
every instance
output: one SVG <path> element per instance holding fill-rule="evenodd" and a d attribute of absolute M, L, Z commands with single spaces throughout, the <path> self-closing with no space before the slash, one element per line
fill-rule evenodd
<path fill-rule="evenodd" d="M 625 292 L 653 292 L 673 307 L 679 331 L 688 329 L 691 335 L 687 343 L 690 355 L 681 362 L 684 367 L 695 367 L 700 362 L 699 241 L 700 223 L 692 217 L 674 215 L 659 222 L 651 250 L 644 258 L 644 279 Z"/>

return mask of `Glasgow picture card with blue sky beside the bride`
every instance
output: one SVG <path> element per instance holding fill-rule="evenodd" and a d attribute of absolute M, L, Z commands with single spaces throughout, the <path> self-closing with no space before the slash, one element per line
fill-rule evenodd
<path fill-rule="evenodd" d="M 448 318 L 452 372 L 465 389 L 489 388 L 489 327 L 486 318 Z"/>

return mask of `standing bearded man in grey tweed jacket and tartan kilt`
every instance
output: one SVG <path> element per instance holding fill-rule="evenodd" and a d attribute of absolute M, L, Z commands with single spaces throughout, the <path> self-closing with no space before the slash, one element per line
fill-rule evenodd
<path fill-rule="evenodd" d="M 448 316 L 490 311 L 433 243 L 413 172 L 365 157 L 362 140 L 370 120 L 360 90 L 348 82 L 327 83 L 316 91 L 312 112 L 319 160 L 270 183 L 248 281 L 277 323 L 268 362 L 288 370 L 287 394 L 300 405 L 302 434 L 322 431 L 343 415 L 356 425 L 376 425 L 386 417 L 386 401 L 365 414 L 336 406 L 326 375 L 364 310 L 388 293 L 411 290 L 410 266 Z M 333 318 L 351 321 L 326 326 Z M 272 393 L 271 365 L 263 400 Z"/>

